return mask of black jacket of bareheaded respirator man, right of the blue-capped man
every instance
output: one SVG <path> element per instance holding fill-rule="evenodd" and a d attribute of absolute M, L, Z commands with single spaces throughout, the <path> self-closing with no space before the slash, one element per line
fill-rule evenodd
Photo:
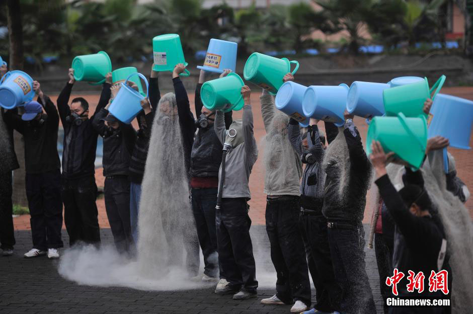
<path fill-rule="evenodd" d="M 99 133 L 94 129 L 92 121 L 100 109 L 110 99 L 110 84 L 104 83 L 102 94 L 94 114 L 81 125 L 66 121 L 70 115 L 68 105 L 72 84 L 67 83 L 57 98 L 57 109 L 64 128 L 64 150 L 62 152 L 62 177 L 77 179 L 95 175 L 95 155 Z"/>

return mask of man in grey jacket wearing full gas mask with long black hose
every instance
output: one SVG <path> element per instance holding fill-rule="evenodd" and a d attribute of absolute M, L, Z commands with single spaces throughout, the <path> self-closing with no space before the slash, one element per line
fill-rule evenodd
<path fill-rule="evenodd" d="M 233 294 L 235 300 L 257 297 L 258 288 L 247 203 L 251 198 L 248 180 L 258 158 L 258 147 L 253 135 L 251 90 L 243 86 L 241 93 L 245 102 L 243 120 L 233 121 L 227 132 L 223 111 L 217 110 L 214 123 L 224 154 L 215 206 L 217 248 L 228 281 L 227 285 L 217 286 L 215 293 Z"/>

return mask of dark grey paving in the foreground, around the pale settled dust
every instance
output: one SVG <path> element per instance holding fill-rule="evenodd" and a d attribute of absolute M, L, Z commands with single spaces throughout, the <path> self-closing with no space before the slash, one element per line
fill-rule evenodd
<path fill-rule="evenodd" d="M 365 230 L 368 226 L 365 225 Z M 251 228 L 258 267 L 274 271 L 265 227 Z M 234 301 L 212 288 L 183 291 L 142 291 L 122 287 L 78 285 L 57 272 L 58 261 L 45 257 L 25 259 L 31 249 L 31 232 L 16 231 L 15 255 L 0 257 L 0 313 L 289 313 L 289 305 L 263 305 L 260 300 L 274 294 L 271 287 L 258 289 L 258 299 Z M 110 229 L 101 229 L 103 243 L 112 243 Z M 64 243 L 68 242 L 63 230 Z M 374 250 L 366 249 L 366 270 L 378 313 L 382 312 Z M 258 278 L 257 278 L 258 279 Z M 276 281 L 276 277 L 274 277 Z M 315 300 L 312 290 L 312 301 Z"/>

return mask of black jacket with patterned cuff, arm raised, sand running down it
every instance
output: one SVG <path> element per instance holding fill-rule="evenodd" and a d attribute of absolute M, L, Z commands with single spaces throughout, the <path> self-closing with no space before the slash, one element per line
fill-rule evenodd
<path fill-rule="evenodd" d="M 348 187 L 345 191 L 345 197 L 341 200 L 339 195 L 340 165 L 334 162 L 327 166 L 324 208 L 322 212 L 327 219 L 332 221 L 347 220 L 358 223 L 363 220 L 366 192 L 370 184 L 371 163 L 363 149 L 358 129 L 356 129 L 356 137 L 350 133 L 348 128 L 343 131 L 343 134 L 345 135 L 350 157 Z"/>

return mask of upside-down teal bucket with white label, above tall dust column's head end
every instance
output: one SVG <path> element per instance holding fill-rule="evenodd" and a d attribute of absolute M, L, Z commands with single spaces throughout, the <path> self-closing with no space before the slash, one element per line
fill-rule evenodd
<path fill-rule="evenodd" d="M 153 38 L 153 70 L 170 71 L 174 70 L 176 64 L 183 63 L 187 66 L 182 50 L 181 37 L 178 34 L 165 34 Z M 188 69 L 181 76 L 189 76 Z"/>

